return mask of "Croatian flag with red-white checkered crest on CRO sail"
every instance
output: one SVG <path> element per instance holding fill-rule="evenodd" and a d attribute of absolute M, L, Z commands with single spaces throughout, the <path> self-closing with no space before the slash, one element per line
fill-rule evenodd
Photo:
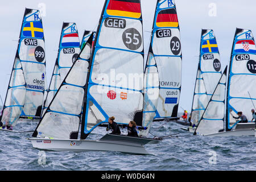
<path fill-rule="evenodd" d="M 234 52 L 236 53 L 256 53 L 255 43 L 253 40 L 238 40 Z"/>

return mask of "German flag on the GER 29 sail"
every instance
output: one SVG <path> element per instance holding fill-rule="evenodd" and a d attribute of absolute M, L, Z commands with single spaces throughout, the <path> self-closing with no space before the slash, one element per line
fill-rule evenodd
<path fill-rule="evenodd" d="M 156 18 L 156 26 L 158 27 L 178 27 L 177 13 L 175 8 L 159 11 Z"/>

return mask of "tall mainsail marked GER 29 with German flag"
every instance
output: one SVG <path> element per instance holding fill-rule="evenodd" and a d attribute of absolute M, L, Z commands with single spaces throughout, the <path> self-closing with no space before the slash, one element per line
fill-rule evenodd
<path fill-rule="evenodd" d="M 181 44 L 174 1 L 157 2 L 151 46 L 158 65 L 160 85 L 155 118 L 177 117 L 181 90 Z"/>

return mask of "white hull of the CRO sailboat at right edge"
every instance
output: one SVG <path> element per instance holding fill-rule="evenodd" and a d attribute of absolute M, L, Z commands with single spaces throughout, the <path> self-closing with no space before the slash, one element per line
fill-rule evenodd
<path fill-rule="evenodd" d="M 254 130 L 232 130 L 232 131 L 223 131 L 220 133 L 204 135 L 208 137 L 242 137 L 242 136 L 254 136 Z"/>

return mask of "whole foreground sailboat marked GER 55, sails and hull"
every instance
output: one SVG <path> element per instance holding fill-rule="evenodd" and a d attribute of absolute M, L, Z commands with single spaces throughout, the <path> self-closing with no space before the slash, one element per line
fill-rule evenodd
<path fill-rule="evenodd" d="M 93 47 L 92 41 L 93 35 L 36 127 L 33 138 L 30 138 L 32 146 L 55 151 L 148 154 L 144 145 L 158 143 L 159 139 L 106 134 L 99 140 L 86 140 L 112 115 L 120 125 L 127 125 L 131 120 L 138 126 L 142 125 L 144 52 L 141 2 L 106 0 Z M 129 83 L 126 78 L 131 79 Z"/>

